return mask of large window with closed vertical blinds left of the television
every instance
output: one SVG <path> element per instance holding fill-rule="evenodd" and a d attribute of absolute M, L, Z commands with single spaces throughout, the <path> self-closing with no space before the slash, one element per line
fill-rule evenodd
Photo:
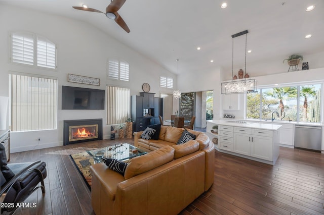
<path fill-rule="evenodd" d="M 57 80 L 11 74 L 11 130 L 57 129 Z"/>

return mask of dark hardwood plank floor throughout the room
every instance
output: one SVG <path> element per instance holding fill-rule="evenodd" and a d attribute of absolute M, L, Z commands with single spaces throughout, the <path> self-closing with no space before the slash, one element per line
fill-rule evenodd
<path fill-rule="evenodd" d="M 47 152 L 99 148 L 133 139 L 103 140 L 12 153 L 10 163 L 44 160 L 46 194 L 33 193 L 15 214 L 94 214 L 91 193 L 68 155 Z M 211 189 L 180 214 L 324 214 L 324 154 L 280 147 L 274 166 L 215 151 Z"/>

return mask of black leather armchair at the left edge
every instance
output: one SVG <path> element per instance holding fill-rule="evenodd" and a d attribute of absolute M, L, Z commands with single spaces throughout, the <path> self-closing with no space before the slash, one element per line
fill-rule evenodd
<path fill-rule="evenodd" d="M 17 209 L 17 203 L 23 202 L 38 188 L 42 189 L 43 195 L 45 194 L 45 162 L 39 160 L 33 163 L 7 164 L 5 147 L 0 144 L 0 163 L 1 213 L 13 213 Z"/>

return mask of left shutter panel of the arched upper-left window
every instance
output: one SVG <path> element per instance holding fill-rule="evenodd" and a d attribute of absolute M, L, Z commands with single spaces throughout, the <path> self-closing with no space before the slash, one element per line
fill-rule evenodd
<path fill-rule="evenodd" d="M 12 58 L 14 63 L 34 64 L 34 39 L 33 34 L 12 34 Z"/>

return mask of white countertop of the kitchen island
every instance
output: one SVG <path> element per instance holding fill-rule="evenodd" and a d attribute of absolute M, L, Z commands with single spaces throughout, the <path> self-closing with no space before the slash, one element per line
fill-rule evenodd
<path fill-rule="evenodd" d="M 232 121 L 232 122 L 230 122 Z M 208 120 L 207 122 L 215 123 L 217 125 L 225 125 L 225 126 L 235 126 L 235 127 L 244 127 L 244 128 L 254 128 L 254 129 L 265 129 L 265 130 L 278 130 L 281 125 L 278 124 L 268 124 L 268 123 L 257 123 L 257 122 L 247 122 L 247 123 L 237 123 L 235 121 L 241 120 Z"/>

